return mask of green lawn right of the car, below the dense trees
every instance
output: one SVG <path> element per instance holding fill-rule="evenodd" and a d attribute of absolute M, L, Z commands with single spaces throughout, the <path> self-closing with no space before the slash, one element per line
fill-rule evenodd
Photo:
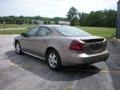
<path fill-rule="evenodd" d="M 81 28 L 92 35 L 102 36 L 108 39 L 112 38 L 115 35 L 115 28 L 104 27 L 78 27 L 78 28 Z"/>

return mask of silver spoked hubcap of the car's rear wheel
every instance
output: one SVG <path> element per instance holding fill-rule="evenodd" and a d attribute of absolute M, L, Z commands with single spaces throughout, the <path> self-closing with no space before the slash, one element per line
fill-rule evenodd
<path fill-rule="evenodd" d="M 50 53 L 49 57 L 48 57 L 48 60 L 49 60 L 49 65 L 52 68 L 55 68 L 56 65 L 57 65 L 57 57 L 56 57 L 56 55 L 54 53 Z"/>

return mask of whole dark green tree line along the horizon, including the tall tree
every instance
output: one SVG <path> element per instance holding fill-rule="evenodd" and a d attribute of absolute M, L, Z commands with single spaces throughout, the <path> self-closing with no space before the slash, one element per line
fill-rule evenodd
<path fill-rule="evenodd" d="M 0 17 L 0 24 L 37 24 L 37 22 L 32 22 L 32 20 L 42 20 L 44 24 L 50 24 L 51 21 L 54 21 L 54 24 L 58 24 L 58 21 L 70 21 L 71 26 L 116 27 L 117 12 L 115 10 L 101 10 L 84 13 L 71 7 L 66 16 L 67 18 L 4 16 Z"/>

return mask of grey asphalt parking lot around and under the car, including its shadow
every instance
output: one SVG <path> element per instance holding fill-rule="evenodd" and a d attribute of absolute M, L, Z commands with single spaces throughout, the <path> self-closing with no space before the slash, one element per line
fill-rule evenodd
<path fill-rule="evenodd" d="M 0 35 L 0 90 L 120 90 L 120 46 L 115 43 L 108 43 L 107 62 L 54 72 L 44 61 L 17 55 L 15 36 Z"/>

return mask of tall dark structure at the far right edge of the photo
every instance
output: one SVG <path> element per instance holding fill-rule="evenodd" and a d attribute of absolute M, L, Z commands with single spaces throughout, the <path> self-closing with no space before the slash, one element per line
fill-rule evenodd
<path fill-rule="evenodd" d="M 120 38 L 120 0 L 117 3 L 117 26 L 116 26 L 116 36 Z"/>

